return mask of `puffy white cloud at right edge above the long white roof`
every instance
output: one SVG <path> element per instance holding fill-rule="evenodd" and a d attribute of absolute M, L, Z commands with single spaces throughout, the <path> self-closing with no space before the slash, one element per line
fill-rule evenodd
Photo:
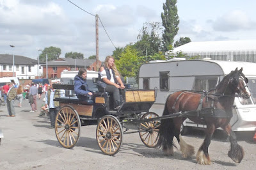
<path fill-rule="evenodd" d="M 215 31 L 239 31 L 256 29 L 256 21 L 251 20 L 246 13 L 234 10 L 219 17 L 213 22 Z"/>

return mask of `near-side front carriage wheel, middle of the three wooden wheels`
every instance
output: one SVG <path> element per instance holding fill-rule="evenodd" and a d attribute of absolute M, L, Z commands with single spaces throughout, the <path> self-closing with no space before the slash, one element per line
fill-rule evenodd
<path fill-rule="evenodd" d="M 123 143 L 123 129 L 115 116 L 103 116 L 96 129 L 96 139 L 100 150 L 106 155 L 115 155 Z"/>

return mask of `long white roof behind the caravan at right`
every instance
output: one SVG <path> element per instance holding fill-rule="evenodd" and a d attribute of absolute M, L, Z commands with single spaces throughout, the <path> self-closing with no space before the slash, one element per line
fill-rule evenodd
<path fill-rule="evenodd" d="M 234 40 L 214 42 L 190 42 L 173 49 L 172 52 L 256 50 L 256 40 Z"/>

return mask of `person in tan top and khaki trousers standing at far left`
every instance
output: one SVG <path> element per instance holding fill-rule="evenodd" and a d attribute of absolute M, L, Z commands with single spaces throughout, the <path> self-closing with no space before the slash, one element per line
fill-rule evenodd
<path fill-rule="evenodd" d="M 7 117 L 15 117 L 14 100 L 17 96 L 16 89 L 13 86 L 13 82 L 8 82 L 9 90 L 7 92 Z"/>

